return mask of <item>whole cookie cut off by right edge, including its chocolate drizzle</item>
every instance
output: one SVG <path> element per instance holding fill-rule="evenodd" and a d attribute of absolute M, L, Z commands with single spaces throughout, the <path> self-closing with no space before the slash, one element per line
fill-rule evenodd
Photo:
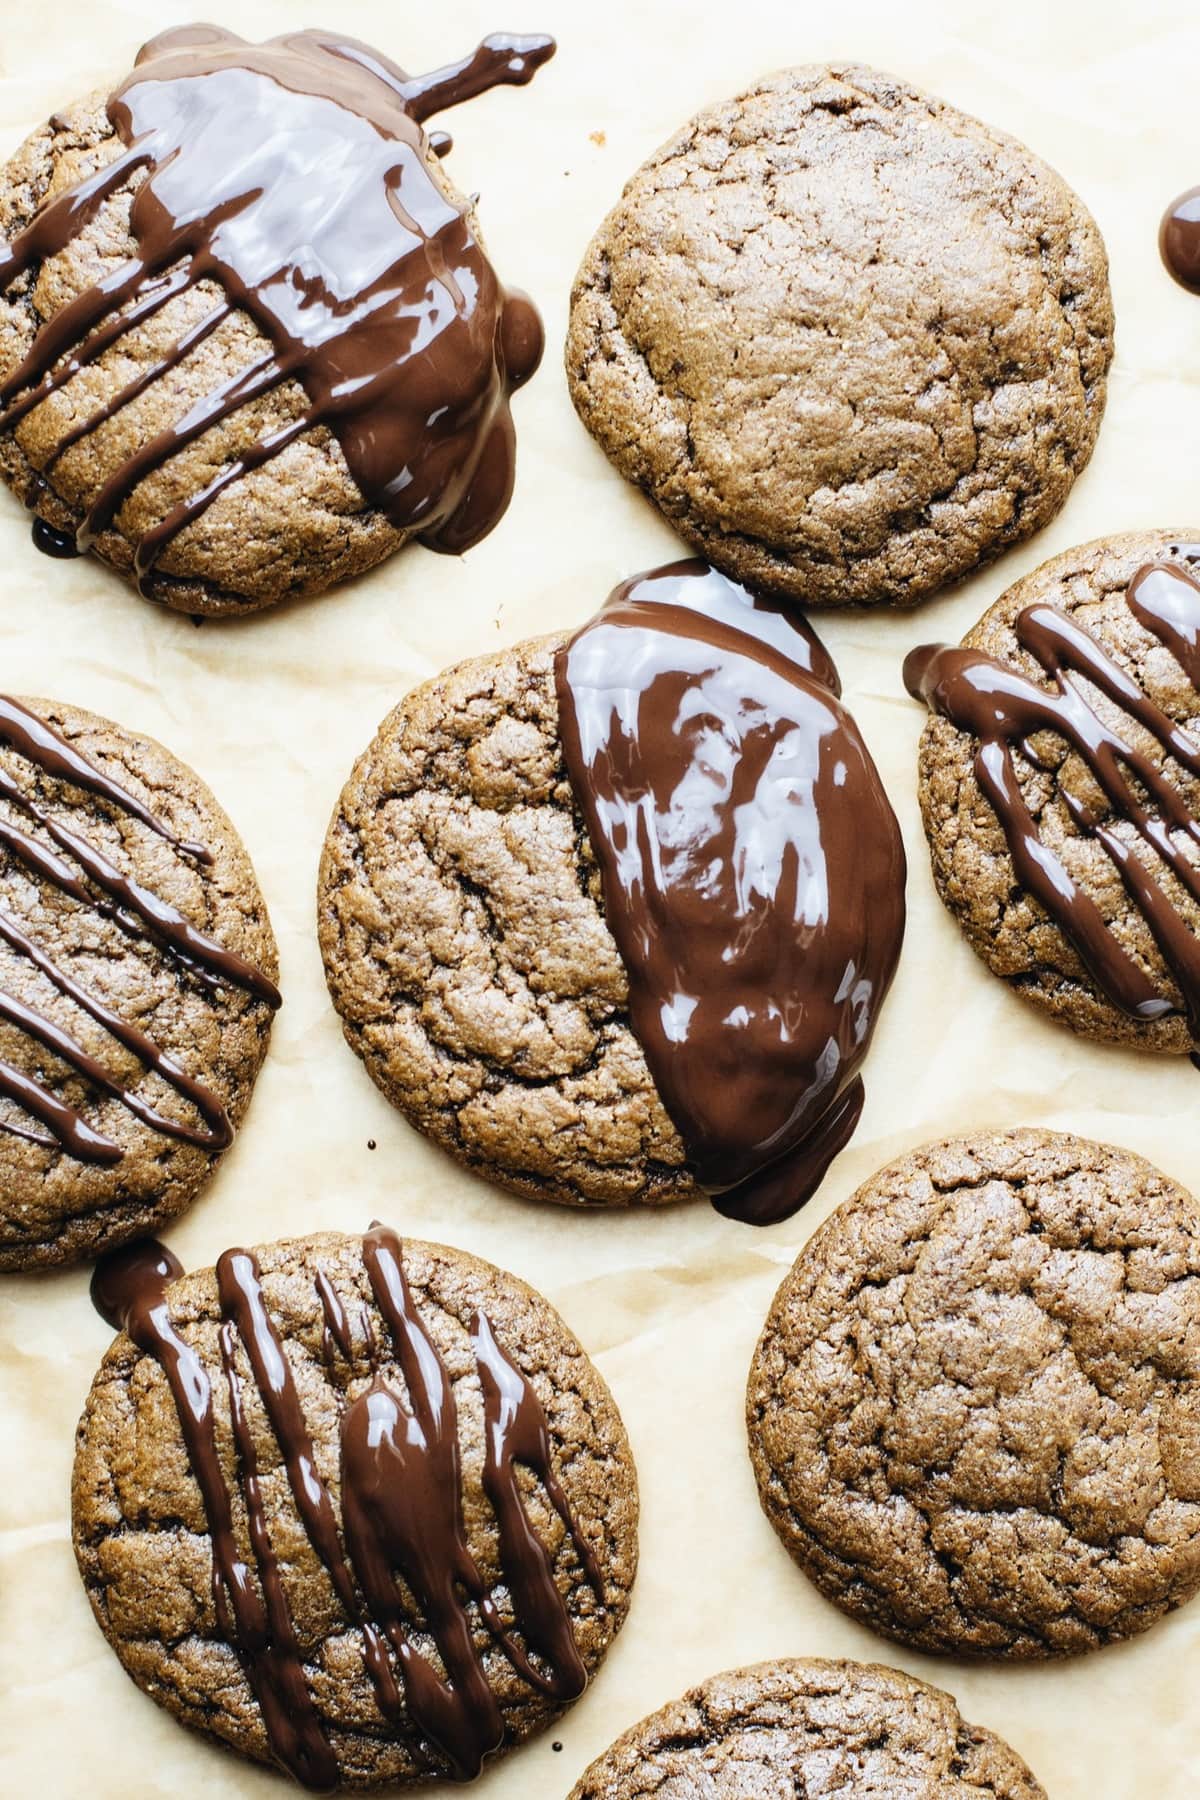
<path fill-rule="evenodd" d="M 1198 643 L 1200 533 L 1148 531 L 1056 556 L 905 664 L 972 947 L 1085 1037 L 1166 1053 L 1200 1037 Z"/>

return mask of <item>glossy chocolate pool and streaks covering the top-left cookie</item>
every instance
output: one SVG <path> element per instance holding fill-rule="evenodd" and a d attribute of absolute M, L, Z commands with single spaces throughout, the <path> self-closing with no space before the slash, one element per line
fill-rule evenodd
<path fill-rule="evenodd" d="M 223 299 L 106 405 L 83 410 L 41 482 L 234 311 L 245 310 L 270 347 L 121 463 L 92 497 L 79 551 L 171 457 L 288 382 L 308 398 L 299 416 L 223 459 L 142 535 L 142 589 L 184 527 L 315 427 L 335 434 L 363 499 L 396 529 L 452 553 L 491 531 L 513 488 L 507 400 L 538 365 L 542 322 L 498 284 L 471 209 L 437 175 L 450 140 L 423 122 L 529 81 L 552 54 L 552 38 L 493 36 L 461 63 L 414 77 L 318 31 L 250 45 L 191 25 L 142 49 L 108 101 L 121 155 L 0 245 L 0 290 L 61 252 L 126 187 L 137 254 L 38 329 L 0 383 L 0 428 L 201 281 Z M 41 547 L 61 554 L 61 540 L 45 536 Z"/>

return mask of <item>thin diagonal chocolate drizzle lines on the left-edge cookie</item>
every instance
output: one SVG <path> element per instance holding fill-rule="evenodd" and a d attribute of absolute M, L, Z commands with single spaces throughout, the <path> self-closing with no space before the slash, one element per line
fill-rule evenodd
<path fill-rule="evenodd" d="M 178 839 L 137 796 L 81 756 L 50 724 L 18 700 L 5 697 L 0 697 L 0 749 L 13 751 L 45 779 L 81 788 L 113 806 L 126 819 L 139 821 L 178 855 L 201 866 L 212 860 L 201 844 Z M 279 990 L 259 968 L 205 936 L 167 900 L 122 875 L 101 850 L 65 824 L 56 808 L 29 794 L 2 765 L 0 801 L 9 806 L 9 814 L 0 814 L 0 857 L 23 869 L 32 882 L 76 900 L 81 907 L 110 920 L 126 936 L 153 943 L 210 992 L 227 983 L 243 988 L 272 1008 L 279 1006 Z M 16 823 L 18 819 L 22 823 Z M 29 824 L 38 826 L 41 835 L 32 835 Z M 41 1046 L 92 1089 L 119 1100 L 149 1130 L 214 1156 L 228 1148 L 234 1127 L 212 1089 L 182 1069 L 175 1057 L 167 1055 L 140 1026 L 122 1019 L 83 981 L 56 963 L 38 943 L 36 914 L 22 923 L 0 909 L 0 943 L 7 945 L 13 956 L 32 965 L 50 986 L 94 1019 L 144 1069 L 175 1089 L 194 1107 L 201 1123 L 191 1125 L 149 1105 L 135 1089 L 117 1080 L 99 1057 L 85 1049 L 68 1030 L 2 988 L 0 1021 L 16 1028 L 32 1046 Z M 40 1057 L 34 1058 L 34 1067 L 38 1060 Z M 45 1078 L 18 1069 L 9 1060 L 0 1060 L 0 1096 L 32 1121 L 23 1123 L 5 1116 L 0 1118 L 0 1132 L 23 1138 L 47 1150 L 65 1150 L 81 1163 L 112 1165 L 121 1161 L 124 1154 L 121 1145 L 95 1130 L 81 1111 L 63 1100 Z"/>

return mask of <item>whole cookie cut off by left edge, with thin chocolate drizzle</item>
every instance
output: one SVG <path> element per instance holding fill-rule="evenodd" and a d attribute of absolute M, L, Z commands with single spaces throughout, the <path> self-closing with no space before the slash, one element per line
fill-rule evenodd
<path fill-rule="evenodd" d="M 81 707 L 0 697 L 0 1269 L 79 1262 L 194 1201 L 277 974 L 203 781 Z"/>

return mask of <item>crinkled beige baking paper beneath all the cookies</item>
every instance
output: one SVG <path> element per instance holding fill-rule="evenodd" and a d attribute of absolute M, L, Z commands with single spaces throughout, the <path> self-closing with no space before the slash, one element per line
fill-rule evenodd
<path fill-rule="evenodd" d="M 149 0 L 0 0 L 0 153 L 56 106 L 108 85 L 139 43 L 189 18 Z M 482 189 L 502 275 L 534 293 L 549 351 L 516 400 L 515 504 L 466 558 L 410 549 L 324 599 L 201 628 L 133 598 L 97 563 L 34 553 L 0 491 L 0 682 L 162 738 L 216 788 L 270 900 L 286 1004 L 246 1127 L 169 1240 L 209 1265 L 237 1242 L 383 1217 L 542 1287 L 621 1404 L 642 1483 L 642 1568 L 624 1634 L 560 1728 L 484 1777 L 488 1800 L 563 1800 L 610 1739 L 738 1663 L 891 1660 L 948 1687 L 1029 1760 L 1051 1800 L 1186 1800 L 1200 1786 L 1200 1602 L 1139 1642 L 1060 1667 L 936 1663 L 826 1606 L 759 1514 L 743 1386 L 770 1298 L 828 1211 L 889 1157 L 981 1125 L 1106 1138 L 1200 1184 L 1200 1076 L 1088 1048 L 1009 995 L 959 940 L 918 823 L 918 707 L 905 650 L 959 637 L 1016 576 L 1072 544 L 1142 526 L 1200 535 L 1200 301 L 1155 256 L 1162 205 L 1200 182 L 1187 0 L 381 0 L 216 4 L 248 36 L 335 25 L 426 68 L 489 29 L 552 29 L 524 92 L 450 121 L 453 175 Z M 574 1215 L 515 1201 L 419 1139 L 345 1048 L 313 923 L 322 835 L 353 758 L 414 682 L 462 655 L 585 619 L 624 574 L 676 554 L 671 533 L 578 425 L 561 374 L 567 295 L 624 178 L 698 106 L 828 56 L 891 68 L 1013 131 L 1094 209 L 1112 256 L 1117 362 L 1099 450 L 1065 515 L 909 617 L 819 621 L 910 851 L 901 972 L 865 1069 L 851 1150 L 790 1224 L 754 1231 L 707 1206 Z M 378 1148 L 371 1152 L 367 1139 Z M 126 1679 L 92 1622 L 68 1530 L 72 1436 L 110 1334 L 86 1271 L 0 1280 L 0 1795 L 4 1800 L 268 1800 L 282 1777 L 193 1739 Z M 551 1739 L 561 1741 L 561 1753 Z"/>

